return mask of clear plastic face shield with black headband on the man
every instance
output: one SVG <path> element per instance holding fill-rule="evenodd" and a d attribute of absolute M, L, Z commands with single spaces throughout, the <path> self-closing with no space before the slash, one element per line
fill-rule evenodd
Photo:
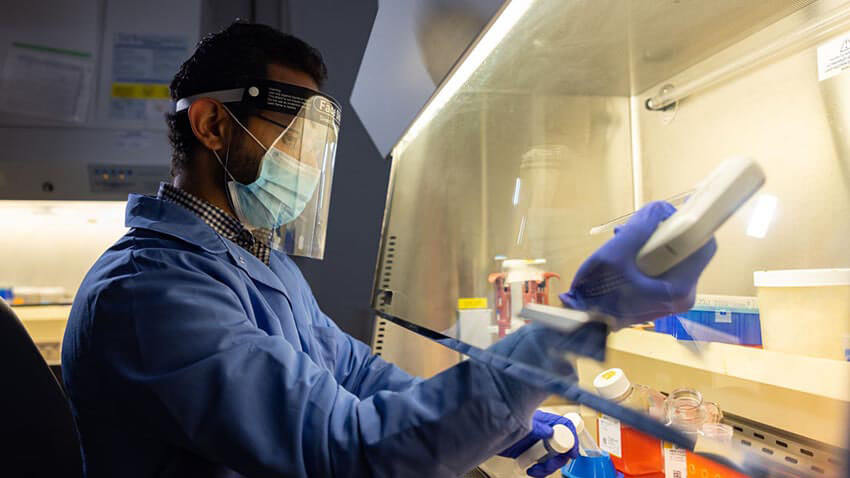
<path fill-rule="evenodd" d="M 253 182 L 243 184 L 230 178 L 227 190 L 231 205 L 255 239 L 290 255 L 321 259 L 339 134 L 339 104 L 328 95 L 286 83 L 257 80 L 246 85 L 181 99 L 176 111 L 188 109 L 200 98 L 212 98 L 225 106 L 239 104 L 240 110 L 281 128 L 271 144 L 263 144 L 232 116 L 265 154 Z M 222 165 L 227 170 L 226 161 Z"/>

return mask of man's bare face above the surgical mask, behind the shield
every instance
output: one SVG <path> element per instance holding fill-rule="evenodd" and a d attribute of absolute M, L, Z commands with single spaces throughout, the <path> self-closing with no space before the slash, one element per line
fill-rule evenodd
<path fill-rule="evenodd" d="M 272 81 L 319 90 L 319 86 L 310 75 L 282 65 L 269 65 L 266 74 L 267 78 Z M 291 115 L 274 111 L 255 112 L 248 116 L 242 116 L 239 120 L 266 148 L 271 147 L 281 133 L 285 131 L 283 137 L 274 146 L 296 158 L 301 156 L 302 132 L 305 127 L 310 128 L 311 126 L 310 121 L 304 121 L 303 118 L 295 118 L 293 121 Z M 305 145 L 305 147 L 309 147 L 309 145 Z M 233 139 L 227 160 L 227 169 L 233 177 L 243 184 L 253 182 L 259 173 L 260 160 L 263 154 L 265 154 L 263 147 L 234 122 Z"/>

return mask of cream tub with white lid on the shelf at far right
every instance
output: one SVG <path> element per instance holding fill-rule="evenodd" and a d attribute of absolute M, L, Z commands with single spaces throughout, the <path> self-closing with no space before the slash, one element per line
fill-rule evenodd
<path fill-rule="evenodd" d="M 766 350 L 845 360 L 850 336 L 850 269 L 757 271 Z"/>

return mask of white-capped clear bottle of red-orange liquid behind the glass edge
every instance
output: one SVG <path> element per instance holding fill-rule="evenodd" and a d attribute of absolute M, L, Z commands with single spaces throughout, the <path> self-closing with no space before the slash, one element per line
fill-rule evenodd
<path fill-rule="evenodd" d="M 604 398 L 645 412 L 658 419 L 664 415 L 664 395 L 632 384 L 621 369 L 612 368 L 596 376 L 594 387 Z M 599 447 L 611 455 L 614 468 L 627 477 L 660 478 L 664 476 L 661 442 L 618 420 L 599 417 Z"/>

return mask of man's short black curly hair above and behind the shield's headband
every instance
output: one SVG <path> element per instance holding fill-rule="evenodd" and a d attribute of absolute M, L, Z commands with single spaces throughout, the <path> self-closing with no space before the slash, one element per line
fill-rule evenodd
<path fill-rule="evenodd" d="M 246 77 L 265 78 L 274 63 L 307 73 L 319 87 L 328 76 L 322 54 L 303 40 L 267 25 L 236 22 L 198 43 L 171 81 L 171 99 L 233 88 Z M 174 176 L 187 168 L 198 140 L 185 110 L 167 114 L 165 121 Z"/>

